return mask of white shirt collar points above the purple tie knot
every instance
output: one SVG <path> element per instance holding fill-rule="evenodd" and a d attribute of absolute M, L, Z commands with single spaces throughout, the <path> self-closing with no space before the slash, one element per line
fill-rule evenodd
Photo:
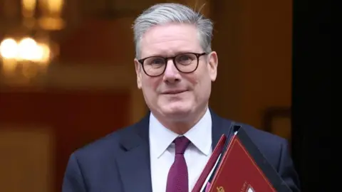
<path fill-rule="evenodd" d="M 168 146 L 180 135 L 172 132 L 170 129 L 164 127 L 152 114 L 150 113 L 150 147 L 152 156 L 159 158 Z M 196 146 L 202 154 L 209 155 L 212 146 L 212 118 L 209 108 L 205 112 L 202 119 L 195 124 L 188 132 L 184 134 L 190 142 Z"/>

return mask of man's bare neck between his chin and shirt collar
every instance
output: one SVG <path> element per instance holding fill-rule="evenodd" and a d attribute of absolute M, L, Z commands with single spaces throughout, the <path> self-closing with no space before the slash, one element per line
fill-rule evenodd
<path fill-rule="evenodd" d="M 157 117 L 157 119 L 167 129 L 170 129 L 172 132 L 182 135 L 188 132 L 192 127 L 194 127 L 195 124 L 197 124 L 197 122 L 202 119 L 205 112 L 207 112 L 207 107 L 204 107 L 204 109 L 199 111 L 197 114 L 190 114 L 189 117 L 180 121 L 160 117 Z"/>

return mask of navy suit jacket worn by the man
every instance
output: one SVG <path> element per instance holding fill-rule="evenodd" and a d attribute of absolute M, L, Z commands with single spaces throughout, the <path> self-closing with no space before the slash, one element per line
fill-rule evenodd
<path fill-rule="evenodd" d="M 212 146 L 222 134 L 232 137 L 232 121 L 212 114 Z M 272 166 L 293 191 L 299 191 L 285 139 L 247 124 L 244 127 Z M 140 122 L 83 146 L 71 154 L 63 192 L 151 192 L 149 115 Z M 157 191 L 161 192 L 161 191 Z"/>

